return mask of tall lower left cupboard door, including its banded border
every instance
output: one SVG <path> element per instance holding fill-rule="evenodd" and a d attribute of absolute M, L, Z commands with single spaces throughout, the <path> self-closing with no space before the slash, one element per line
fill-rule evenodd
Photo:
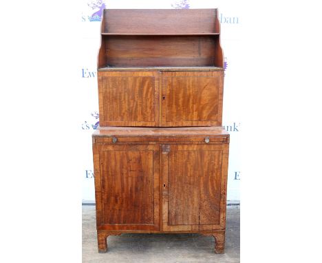
<path fill-rule="evenodd" d="M 160 230 L 158 146 L 94 148 L 98 229 Z"/>

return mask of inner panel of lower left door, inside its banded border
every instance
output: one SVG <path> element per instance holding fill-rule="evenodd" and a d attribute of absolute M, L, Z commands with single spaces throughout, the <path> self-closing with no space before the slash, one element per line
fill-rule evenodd
<path fill-rule="evenodd" d="M 136 148 L 100 154 L 104 224 L 153 224 L 153 151 Z"/>

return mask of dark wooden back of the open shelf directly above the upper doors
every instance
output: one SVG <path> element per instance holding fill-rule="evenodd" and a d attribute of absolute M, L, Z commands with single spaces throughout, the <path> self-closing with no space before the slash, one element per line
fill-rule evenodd
<path fill-rule="evenodd" d="M 212 66 L 219 36 L 105 36 L 109 67 Z"/>

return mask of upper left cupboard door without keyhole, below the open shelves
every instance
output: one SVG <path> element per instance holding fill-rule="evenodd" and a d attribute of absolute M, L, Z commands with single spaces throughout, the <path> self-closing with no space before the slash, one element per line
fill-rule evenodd
<path fill-rule="evenodd" d="M 98 72 L 100 126 L 158 126 L 158 72 Z"/>

